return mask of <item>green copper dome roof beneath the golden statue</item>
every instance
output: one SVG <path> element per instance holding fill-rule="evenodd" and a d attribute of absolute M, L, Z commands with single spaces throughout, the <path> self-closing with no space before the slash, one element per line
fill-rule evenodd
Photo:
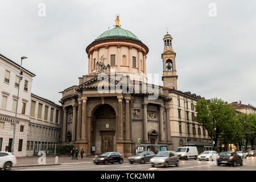
<path fill-rule="evenodd" d="M 98 38 L 95 39 L 95 41 L 105 40 L 105 39 L 131 39 L 131 40 L 136 40 L 141 42 L 141 40 L 139 40 L 137 36 L 134 35 L 132 32 L 120 27 L 115 27 L 115 28 L 112 28 L 111 30 L 105 31 L 103 34 L 98 36 Z"/>

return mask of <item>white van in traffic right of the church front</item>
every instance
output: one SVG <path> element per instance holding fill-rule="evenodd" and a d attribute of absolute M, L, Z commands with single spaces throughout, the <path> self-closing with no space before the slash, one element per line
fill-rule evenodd
<path fill-rule="evenodd" d="M 177 155 L 180 159 L 197 159 L 198 151 L 196 147 L 179 147 L 177 148 Z"/>

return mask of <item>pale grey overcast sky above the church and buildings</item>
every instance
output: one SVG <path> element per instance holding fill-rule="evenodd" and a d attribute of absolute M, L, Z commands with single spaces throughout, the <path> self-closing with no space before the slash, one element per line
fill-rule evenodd
<path fill-rule="evenodd" d="M 38 15 L 39 3 L 45 3 L 46 16 Z M 210 3 L 217 16 L 209 16 Z M 113 28 L 115 14 L 148 46 L 147 73 L 162 74 L 168 28 L 178 90 L 256 106 L 254 0 L 1 0 L 0 53 L 19 64 L 27 56 L 23 66 L 36 75 L 32 93 L 59 104 L 59 92 L 88 73 L 85 48 Z"/>

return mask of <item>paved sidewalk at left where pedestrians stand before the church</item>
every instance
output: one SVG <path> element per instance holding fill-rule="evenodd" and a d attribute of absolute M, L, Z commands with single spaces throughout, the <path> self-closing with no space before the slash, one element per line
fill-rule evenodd
<path fill-rule="evenodd" d="M 46 156 L 46 164 L 38 164 L 39 158 L 40 156 L 18 157 L 15 167 L 56 165 L 55 156 Z M 72 160 L 71 156 L 59 156 L 59 164 L 90 164 L 93 163 L 93 158 L 93 156 L 88 156 L 81 160 L 81 157 L 79 156 L 78 159 Z M 124 158 L 123 162 L 127 163 L 129 161 L 127 158 Z"/>

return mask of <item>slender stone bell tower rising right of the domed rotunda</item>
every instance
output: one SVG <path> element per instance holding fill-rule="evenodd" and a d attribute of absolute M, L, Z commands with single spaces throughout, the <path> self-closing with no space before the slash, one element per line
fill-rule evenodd
<path fill-rule="evenodd" d="M 164 35 L 164 51 L 162 53 L 163 59 L 163 85 L 168 88 L 177 90 L 177 75 L 175 57 L 176 53 L 172 49 L 172 36 L 170 34 Z"/>

